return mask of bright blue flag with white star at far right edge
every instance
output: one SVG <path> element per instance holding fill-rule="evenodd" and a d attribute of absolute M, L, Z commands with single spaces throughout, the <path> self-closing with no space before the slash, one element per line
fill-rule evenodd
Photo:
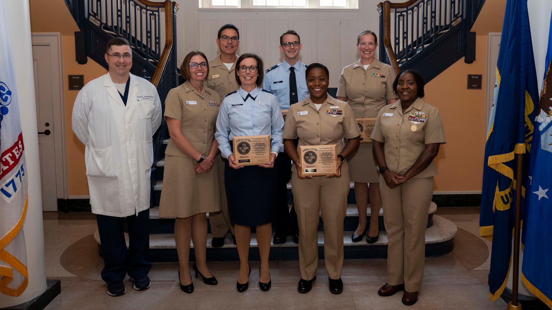
<path fill-rule="evenodd" d="M 530 292 L 552 307 L 552 20 L 548 43 L 530 152 L 521 279 Z"/>

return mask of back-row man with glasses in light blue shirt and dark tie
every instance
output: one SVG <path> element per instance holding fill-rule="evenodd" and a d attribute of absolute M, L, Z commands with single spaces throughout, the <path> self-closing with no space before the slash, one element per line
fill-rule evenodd
<path fill-rule="evenodd" d="M 280 36 L 280 51 L 284 53 L 284 61 L 266 70 L 263 89 L 276 95 L 280 108 L 288 110 L 289 106 L 309 97 L 305 79 L 307 65 L 299 61 L 299 51 L 302 48 L 299 34 L 288 30 Z M 287 184 L 290 180 L 291 160 L 281 152 L 278 161 L 278 204 L 273 225 L 276 228 L 274 244 L 286 242 L 289 233 L 295 243 L 299 243 L 299 228 L 295 208 L 288 213 Z"/>

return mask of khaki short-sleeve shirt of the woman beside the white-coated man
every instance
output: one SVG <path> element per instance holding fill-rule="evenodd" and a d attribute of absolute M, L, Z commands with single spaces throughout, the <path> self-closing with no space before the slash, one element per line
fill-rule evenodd
<path fill-rule="evenodd" d="M 216 116 L 219 114 L 220 96 L 203 84 L 201 93 L 186 81 L 179 87 L 169 90 L 165 99 L 164 116 L 182 122 L 182 134 L 201 154 L 208 154 L 215 137 L 213 131 Z M 169 140 L 165 154 L 189 157 L 173 141 Z"/>

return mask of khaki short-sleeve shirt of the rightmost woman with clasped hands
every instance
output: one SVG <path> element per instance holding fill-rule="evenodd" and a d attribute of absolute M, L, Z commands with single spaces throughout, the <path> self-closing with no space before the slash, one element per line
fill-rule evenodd
<path fill-rule="evenodd" d="M 371 137 L 385 143 L 385 162 L 389 170 L 396 174 L 405 174 L 420 157 L 426 144 L 447 143 L 439 110 L 424 103 L 422 98 L 416 99 L 404 113 L 400 99 L 384 106 L 378 114 Z M 437 174 L 435 163 L 431 162 L 414 178 Z"/>

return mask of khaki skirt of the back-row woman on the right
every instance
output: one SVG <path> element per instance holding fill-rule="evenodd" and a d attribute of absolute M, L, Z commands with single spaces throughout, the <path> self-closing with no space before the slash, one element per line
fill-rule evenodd
<path fill-rule="evenodd" d="M 357 151 L 347 157 L 347 162 L 349 163 L 349 178 L 351 178 L 351 181 L 379 183 L 379 172 L 372 154 L 372 143 L 360 143 Z"/>

